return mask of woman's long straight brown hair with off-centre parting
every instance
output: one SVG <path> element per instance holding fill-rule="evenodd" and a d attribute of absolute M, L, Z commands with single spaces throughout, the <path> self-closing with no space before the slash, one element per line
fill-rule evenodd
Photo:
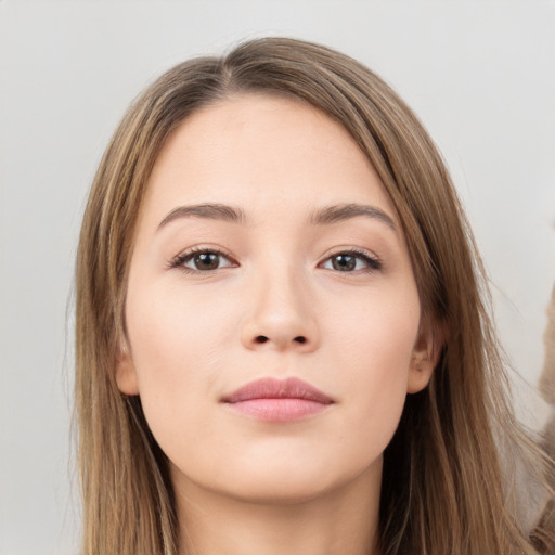
<path fill-rule="evenodd" d="M 248 92 L 294 96 L 353 137 L 398 211 L 423 315 L 438 331 L 431 382 L 408 397 L 384 455 L 382 553 L 538 553 L 519 518 L 512 461 L 527 461 L 542 480 L 548 460 L 509 409 L 482 266 L 441 156 L 411 109 L 366 67 L 282 38 L 167 72 L 131 105 L 98 170 L 76 271 L 85 553 L 178 553 L 166 457 L 140 399 L 120 393 L 115 379 L 127 272 L 141 199 L 169 133 L 201 106 Z M 540 530 L 534 538 L 546 541 Z"/>

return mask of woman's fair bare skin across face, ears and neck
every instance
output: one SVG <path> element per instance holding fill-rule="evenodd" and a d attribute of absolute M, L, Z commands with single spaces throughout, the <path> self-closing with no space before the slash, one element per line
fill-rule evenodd
<path fill-rule="evenodd" d="M 175 212 L 215 203 L 244 218 Z M 311 221 L 351 204 L 379 212 Z M 225 256 L 198 269 L 191 248 Z M 118 386 L 170 461 L 183 550 L 377 553 L 382 454 L 435 359 L 396 211 L 344 128 L 255 94 L 185 120 L 141 207 L 126 323 Z M 334 402 L 285 423 L 221 402 L 291 376 Z"/>

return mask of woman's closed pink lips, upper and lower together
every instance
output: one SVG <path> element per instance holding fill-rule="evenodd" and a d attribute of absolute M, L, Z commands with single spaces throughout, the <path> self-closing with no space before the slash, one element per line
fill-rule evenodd
<path fill-rule="evenodd" d="M 334 403 L 314 386 L 296 377 L 250 382 L 221 402 L 247 416 L 267 422 L 293 422 L 318 414 Z"/>

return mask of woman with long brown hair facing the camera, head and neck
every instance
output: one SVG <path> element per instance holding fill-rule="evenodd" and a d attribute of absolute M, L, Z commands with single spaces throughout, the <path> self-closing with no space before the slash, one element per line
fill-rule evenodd
<path fill-rule="evenodd" d="M 431 140 L 359 63 L 268 38 L 162 76 L 80 236 L 85 553 L 546 550 L 481 274 Z"/>

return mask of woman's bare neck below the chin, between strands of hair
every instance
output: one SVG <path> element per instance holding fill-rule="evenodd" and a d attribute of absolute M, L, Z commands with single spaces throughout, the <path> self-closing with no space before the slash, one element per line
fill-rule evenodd
<path fill-rule="evenodd" d="M 309 500 L 249 502 L 173 476 L 180 555 L 377 555 L 382 468 Z"/>

